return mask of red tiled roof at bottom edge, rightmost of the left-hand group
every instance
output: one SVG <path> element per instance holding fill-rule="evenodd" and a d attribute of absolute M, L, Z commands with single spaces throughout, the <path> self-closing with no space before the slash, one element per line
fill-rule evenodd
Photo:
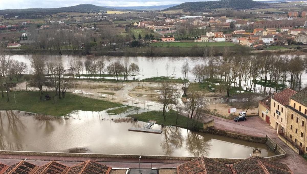
<path fill-rule="evenodd" d="M 70 167 L 66 174 L 109 174 L 111 169 L 112 168 L 107 165 L 87 160 Z"/>

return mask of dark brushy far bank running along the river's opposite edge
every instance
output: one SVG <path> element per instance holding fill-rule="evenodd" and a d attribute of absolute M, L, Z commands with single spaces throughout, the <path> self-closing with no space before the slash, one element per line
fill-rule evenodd
<path fill-rule="evenodd" d="M 84 52 L 84 50 L 65 50 L 62 55 L 92 55 L 92 56 L 204 56 L 205 47 L 146 47 L 146 48 L 133 48 L 129 51 L 90 51 Z M 214 47 L 218 48 L 214 56 L 223 55 L 223 47 Z M 271 52 L 274 54 L 305 54 L 307 48 L 298 49 L 275 49 L 275 50 L 247 50 L 246 47 L 238 46 L 231 47 L 231 52 L 233 53 L 242 53 L 247 54 L 261 54 L 263 52 Z M 10 55 L 29 55 L 29 54 L 38 54 L 38 55 L 60 55 L 57 50 L 25 50 L 25 49 L 6 49 L 7 54 Z"/>

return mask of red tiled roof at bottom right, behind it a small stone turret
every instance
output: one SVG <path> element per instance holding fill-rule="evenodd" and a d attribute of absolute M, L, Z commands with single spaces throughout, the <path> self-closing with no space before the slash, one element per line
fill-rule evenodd
<path fill-rule="evenodd" d="M 262 157 L 251 157 L 231 164 L 233 174 L 293 174 L 289 167 Z"/>

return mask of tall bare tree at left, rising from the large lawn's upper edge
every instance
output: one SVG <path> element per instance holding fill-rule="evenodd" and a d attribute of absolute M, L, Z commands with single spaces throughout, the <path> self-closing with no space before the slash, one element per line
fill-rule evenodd
<path fill-rule="evenodd" d="M 42 99 L 42 87 L 45 82 L 45 59 L 42 56 L 33 56 L 31 60 L 31 68 L 33 68 L 33 78 L 32 82 L 40 90 L 40 99 Z"/>

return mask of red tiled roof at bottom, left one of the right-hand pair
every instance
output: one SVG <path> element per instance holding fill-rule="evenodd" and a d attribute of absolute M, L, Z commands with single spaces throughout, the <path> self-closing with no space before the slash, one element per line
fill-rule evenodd
<path fill-rule="evenodd" d="M 199 157 L 177 167 L 177 174 L 232 174 L 228 165 L 216 160 Z"/>

